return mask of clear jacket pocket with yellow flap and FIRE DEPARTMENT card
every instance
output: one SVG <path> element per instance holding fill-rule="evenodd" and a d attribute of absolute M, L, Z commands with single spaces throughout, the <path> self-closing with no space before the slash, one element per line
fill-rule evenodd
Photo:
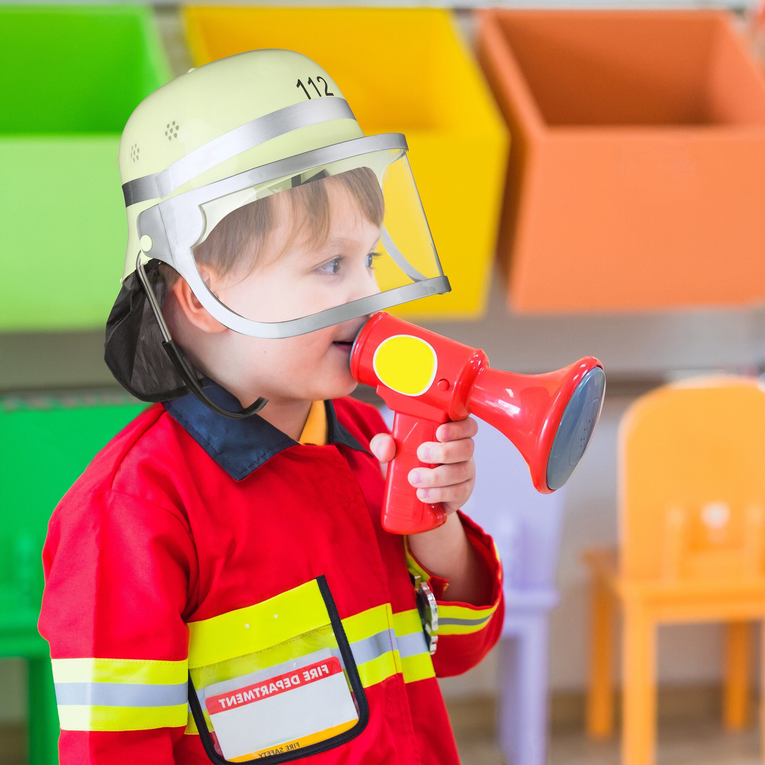
<path fill-rule="evenodd" d="M 366 728 L 366 695 L 324 576 L 188 627 L 189 705 L 211 762 L 288 762 Z"/>

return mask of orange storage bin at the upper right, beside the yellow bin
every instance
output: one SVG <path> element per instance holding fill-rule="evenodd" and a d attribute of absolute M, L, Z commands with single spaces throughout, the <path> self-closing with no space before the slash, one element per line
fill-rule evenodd
<path fill-rule="evenodd" d="M 765 79 L 727 14 L 488 10 L 477 47 L 516 310 L 763 299 Z"/>

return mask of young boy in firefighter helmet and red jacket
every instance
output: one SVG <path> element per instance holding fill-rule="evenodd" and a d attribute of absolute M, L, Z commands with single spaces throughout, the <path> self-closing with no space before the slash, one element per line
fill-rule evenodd
<path fill-rule="evenodd" d="M 50 521 L 61 763 L 457 763 L 436 677 L 503 620 L 493 543 L 456 512 L 476 425 L 419 448 L 438 467 L 412 490 L 448 519 L 402 538 L 380 525 L 395 444 L 347 397 L 369 313 L 448 289 L 402 136 L 364 136 L 316 63 L 260 50 L 149 96 L 120 170 L 106 360 L 161 405 Z"/>

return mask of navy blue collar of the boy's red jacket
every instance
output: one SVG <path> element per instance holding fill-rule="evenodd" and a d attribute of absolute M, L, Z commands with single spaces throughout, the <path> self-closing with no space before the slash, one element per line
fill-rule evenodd
<path fill-rule="evenodd" d="M 216 404 L 236 411 L 242 405 L 225 388 L 212 380 L 203 382 L 204 392 Z M 184 430 L 234 480 L 242 480 L 282 449 L 297 446 L 298 441 L 282 433 L 259 415 L 240 420 L 230 419 L 207 409 L 194 393 L 162 402 L 164 408 Z M 366 451 L 340 425 L 334 405 L 325 401 L 327 410 L 327 444 L 343 444 L 357 451 Z"/>

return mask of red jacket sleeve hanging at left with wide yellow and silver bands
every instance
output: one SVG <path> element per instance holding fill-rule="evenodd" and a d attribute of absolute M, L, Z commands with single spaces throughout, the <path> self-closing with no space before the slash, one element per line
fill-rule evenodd
<path fill-rule="evenodd" d="M 67 495 L 43 550 L 60 765 L 174 763 L 187 724 L 194 545 L 175 512 L 113 490 Z"/>

